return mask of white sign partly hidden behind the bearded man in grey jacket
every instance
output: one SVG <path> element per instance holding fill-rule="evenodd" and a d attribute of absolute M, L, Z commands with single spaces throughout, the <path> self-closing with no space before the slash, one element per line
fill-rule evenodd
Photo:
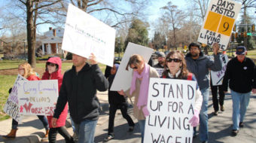
<path fill-rule="evenodd" d="M 213 58 L 213 56 L 211 57 L 211 59 Z M 228 57 L 227 54 L 221 54 L 221 64 L 222 64 L 222 68 L 221 71 L 211 71 L 211 80 L 212 80 L 212 85 L 221 85 L 224 75 L 225 75 L 225 71 L 227 68 L 227 62 L 228 62 Z"/>

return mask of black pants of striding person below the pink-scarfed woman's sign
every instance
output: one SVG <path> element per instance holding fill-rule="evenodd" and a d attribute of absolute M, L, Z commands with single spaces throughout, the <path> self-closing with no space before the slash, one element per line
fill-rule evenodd
<path fill-rule="evenodd" d="M 109 119 L 108 119 L 108 135 L 114 135 L 114 116 L 117 109 L 120 109 L 123 118 L 125 118 L 129 124 L 129 126 L 135 126 L 133 123 L 133 119 L 127 114 L 127 103 L 123 103 L 120 105 L 110 104 L 109 107 Z"/>

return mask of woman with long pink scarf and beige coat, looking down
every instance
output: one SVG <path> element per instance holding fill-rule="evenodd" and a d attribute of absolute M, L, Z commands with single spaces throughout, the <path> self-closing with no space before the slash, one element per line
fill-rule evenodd
<path fill-rule="evenodd" d="M 130 90 L 126 90 L 125 93 L 121 90 L 119 93 L 121 95 L 129 96 L 130 98 L 135 96 L 133 115 L 139 120 L 139 129 L 142 134 L 143 142 L 145 117 L 149 114 L 147 109 L 149 78 L 159 78 L 159 75 L 154 68 L 145 63 L 143 57 L 139 54 L 130 56 L 130 60 L 126 65 L 126 70 L 128 70 L 129 67 L 133 68 L 132 85 Z"/>

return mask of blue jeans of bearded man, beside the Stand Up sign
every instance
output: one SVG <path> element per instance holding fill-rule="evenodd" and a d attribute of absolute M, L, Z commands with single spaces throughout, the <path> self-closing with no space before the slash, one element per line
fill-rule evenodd
<path fill-rule="evenodd" d="M 209 88 L 200 90 L 203 96 L 203 103 L 200 111 L 199 136 L 201 141 L 208 141 L 208 101 Z M 194 127 L 194 135 L 196 135 L 196 127 Z"/>

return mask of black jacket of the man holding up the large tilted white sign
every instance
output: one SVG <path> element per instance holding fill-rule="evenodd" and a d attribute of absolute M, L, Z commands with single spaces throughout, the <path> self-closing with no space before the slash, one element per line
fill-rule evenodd
<path fill-rule="evenodd" d="M 96 90 L 108 90 L 108 81 L 99 66 L 86 64 L 77 73 L 73 65 L 63 77 L 53 117 L 58 118 L 66 102 L 69 102 L 70 115 L 75 123 L 81 123 L 85 119 L 98 120 L 99 99 L 96 97 Z"/>

